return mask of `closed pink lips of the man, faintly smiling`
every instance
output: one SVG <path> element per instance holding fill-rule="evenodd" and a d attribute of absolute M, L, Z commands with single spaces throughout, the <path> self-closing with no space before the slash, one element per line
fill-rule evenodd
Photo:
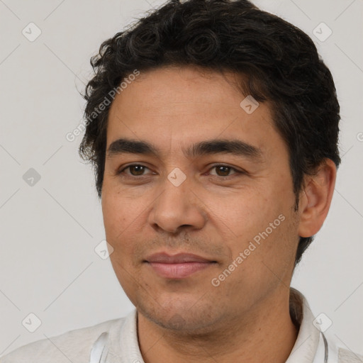
<path fill-rule="evenodd" d="M 166 279 L 184 279 L 217 263 L 189 253 L 168 255 L 166 252 L 151 255 L 144 262 Z"/>

